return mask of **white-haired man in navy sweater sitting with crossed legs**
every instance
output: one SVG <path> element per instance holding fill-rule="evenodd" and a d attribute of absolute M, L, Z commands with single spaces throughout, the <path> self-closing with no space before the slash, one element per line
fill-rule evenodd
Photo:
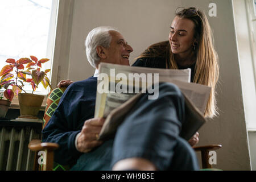
<path fill-rule="evenodd" d="M 103 118 L 93 118 L 98 65 L 129 65 L 133 48 L 112 27 L 94 28 L 85 47 L 88 61 L 96 68 L 94 76 L 69 85 L 42 131 L 43 142 L 60 145 L 55 161 L 73 170 L 199 169 L 195 152 L 179 137 L 185 122 L 184 98 L 172 84 L 160 84 L 156 100 L 144 94 L 114 138 L 97 140 L 104 123 Z"/>

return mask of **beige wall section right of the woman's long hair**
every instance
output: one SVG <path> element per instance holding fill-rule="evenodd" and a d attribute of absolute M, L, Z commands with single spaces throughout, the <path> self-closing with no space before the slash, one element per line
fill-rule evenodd
<path fill-rule="evenodd" d="M 196 1 L 207 9 L 209 2 Z M 200 129 L 200 144 L 221 143 L 215 167 L 230 170 L 249 170 L 250 155 L 243 109 L 241 75 L 232 1 L 214 1 L 217 17 L 209 18 L 214 32 L 216 51 L 220 59 L 220 80 L 217 87 L 217 105 L 220 117 Z M 192 6 L 191 1 L 183 5 Z"/>

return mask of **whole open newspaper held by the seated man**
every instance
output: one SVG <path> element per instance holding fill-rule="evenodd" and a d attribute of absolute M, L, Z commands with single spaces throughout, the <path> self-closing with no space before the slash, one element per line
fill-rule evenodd
<path fill-rule="evenodd" d="M 191 83 L 191 69 L 156 69 L 101 63 L 99 72 L 104 74 L 98 77 L 94 117 L 106 118 L 98 138 L 100 140 L 112 137 L 142 93 L 149 92 L 150 86 L 160 82 L 172 82 L 184 94 L 186 116 L 189 121 L 183 126 L 181 137 L 188 140 L 205 123 L 203 113 L 210 87 Z M 135 77 L 129 77 L 129 73 L 133 73 Z M 145 74 L 150 75 L 148 73 L 151 73 L 152 77 L 143 77 Z M 102 92 L 102 88 L 105 92 Z M 117 92 L 117 88 L 122 88 L 122 93 Z M 130 88 L 133 92 L 128 92 Z"/>

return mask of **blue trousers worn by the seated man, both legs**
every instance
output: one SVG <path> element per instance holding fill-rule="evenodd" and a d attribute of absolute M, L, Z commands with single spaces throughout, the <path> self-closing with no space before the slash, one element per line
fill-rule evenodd
<path fill-rule="evenodd" d="M 176 85 L 159 84 L 159 97 L 143 94 L 118 127 L 113 139 L 82 154 L 73 170 L 111 170 L 119 160 L 144 158 L 159 170 L 198 170 L 192 147 L 179 137 L 185 102 Z"/>

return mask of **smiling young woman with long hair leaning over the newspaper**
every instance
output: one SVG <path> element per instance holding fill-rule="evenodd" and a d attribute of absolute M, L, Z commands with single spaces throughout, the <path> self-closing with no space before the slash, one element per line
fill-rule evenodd
<path fill-rule="evenodd" d="M 205 117 L 217 114 L 215 86 L 218 80 L 218 56 L 206 15 L 195 7 L 175 14 L 169 40 L 152 44 L 135 58 L 133 66 L 151 68 L 191 68 L 191 82 L 212 87 Z"/>

